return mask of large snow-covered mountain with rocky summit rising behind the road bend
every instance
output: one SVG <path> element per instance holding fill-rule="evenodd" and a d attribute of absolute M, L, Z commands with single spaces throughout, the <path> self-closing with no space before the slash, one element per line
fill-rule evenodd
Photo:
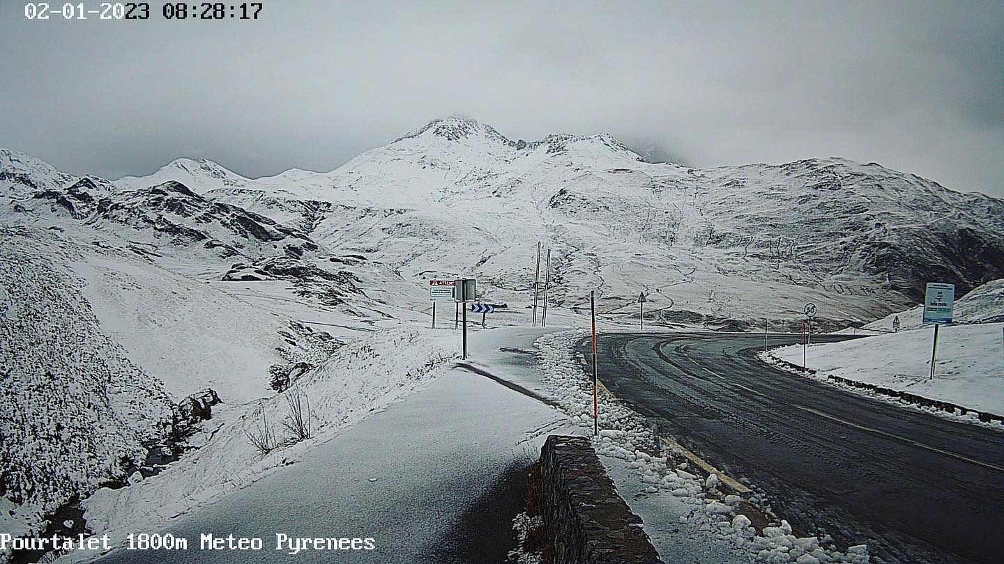
<path fill-rule="evenodd" d="M 554 303 L 581 308 L 596 290 L 608 317 L 635 315 L 645 291 L 666 321 L 783 322 L 812 301 L 836 328 L 915 302 L 931 279 L 966 291 L 1004 276 L 999 200 L 841 159 L 652 165 L 607 134 L 514 142 L 451 117 L 330 173 L 227 188 L 221 175 L 190 188 L 408 280 L 476 276 L 493 301 L 528 301 L 543 241 Z"/>

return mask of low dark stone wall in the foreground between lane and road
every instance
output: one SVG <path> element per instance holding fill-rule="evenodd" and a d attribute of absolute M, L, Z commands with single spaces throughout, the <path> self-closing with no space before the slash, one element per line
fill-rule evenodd
<path fill-rule="evenodd" d="M 552 435 L 540 463 L 556 564 L 662 564 L 588 439 Z"/>

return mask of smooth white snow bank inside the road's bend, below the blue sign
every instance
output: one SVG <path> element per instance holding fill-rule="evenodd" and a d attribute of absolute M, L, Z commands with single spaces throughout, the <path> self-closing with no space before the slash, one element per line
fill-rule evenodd
<path fill-rule="evenodd" d="M 942 327 L 934 379 L 928 379 L 931 328 L 813 344 L 808 347 L 807 365 L 822 377 L 831 374 L 1004 414 L 1002 328 L 1004 323 Z M 801 366 L 802 346 L 771 349 L 767 360 L 771 358 Z"/>

